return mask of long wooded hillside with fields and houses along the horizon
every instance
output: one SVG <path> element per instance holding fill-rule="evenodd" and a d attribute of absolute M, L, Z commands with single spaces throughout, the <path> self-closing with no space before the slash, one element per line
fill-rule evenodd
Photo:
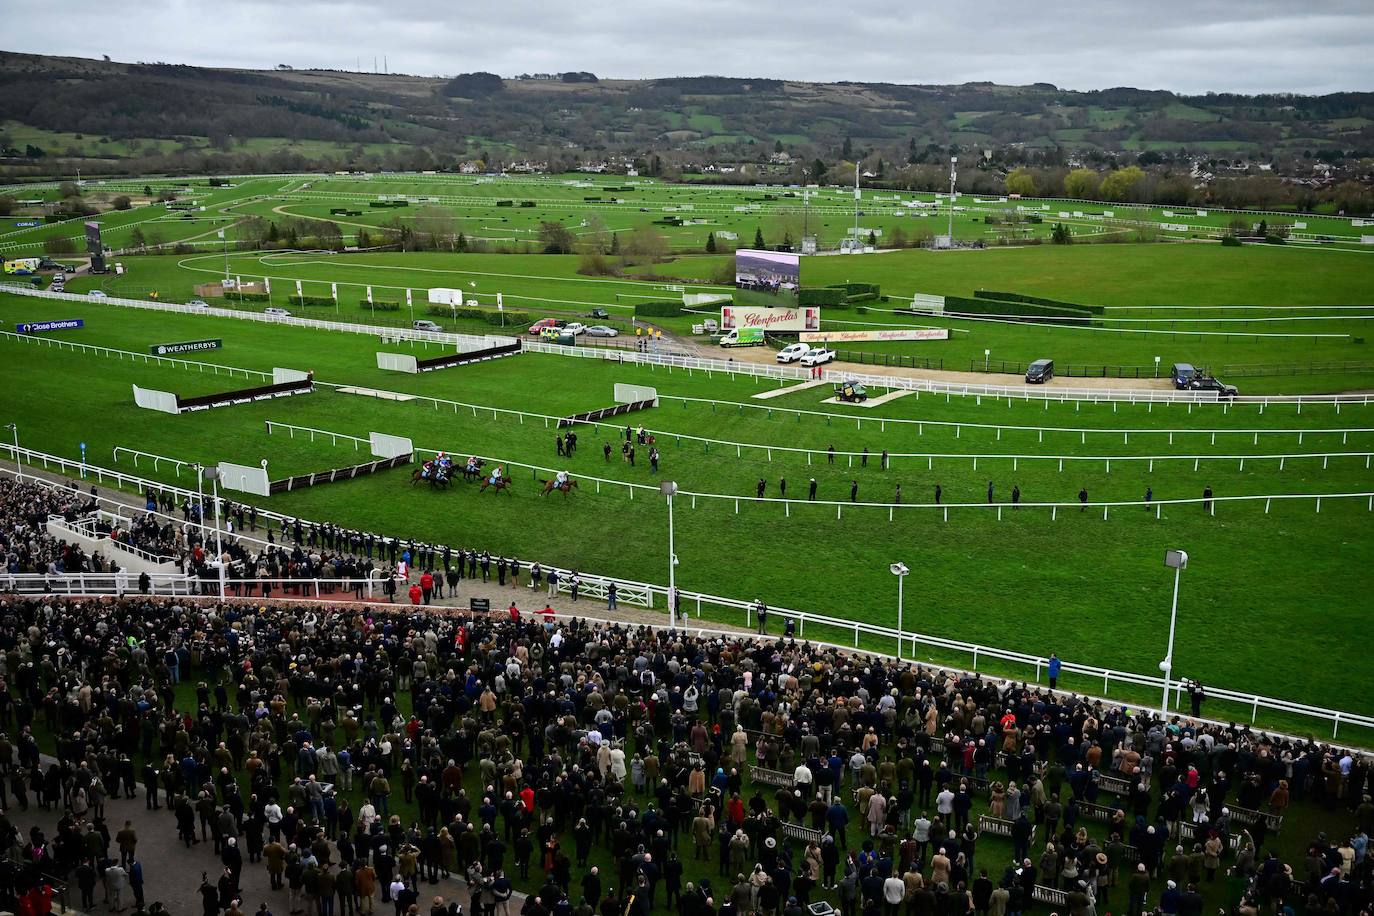
<path fill-rule="evenodd" d="M 284 65 L 283 65 L 284 66 Z M 0 162 L 70 172 L 445 168 L 530 158 L 554 169 L 624 154 L 797 162 L 857 154 L 943 161 L 974 150 L 1359 155 L 1374 93 L 1178 96 L 1116 88 L 577 81 L 491 74 L 229 70 L 0 54 Z M 800 168 L 800 166 L 793 166 Z"/>

